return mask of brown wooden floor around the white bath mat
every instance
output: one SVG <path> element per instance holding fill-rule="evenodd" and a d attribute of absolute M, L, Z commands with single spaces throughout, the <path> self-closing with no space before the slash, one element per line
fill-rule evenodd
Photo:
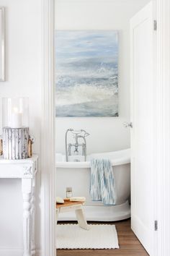
<path fill-rule="evenodd" d="M 109 222 L 110 224 L 110 222 Z M 112 222 L 116 225 L 120 249 L 58 249 L 58 256 L 147 256 L 148 253 L 130 229 L 130 219 Z"/>

